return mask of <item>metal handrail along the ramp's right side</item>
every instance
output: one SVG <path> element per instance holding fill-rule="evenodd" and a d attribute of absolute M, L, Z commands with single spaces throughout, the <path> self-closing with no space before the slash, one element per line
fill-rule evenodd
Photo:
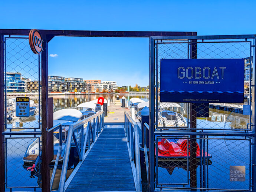
<path fill-rule="evenodd" d="M 136 191 L 141 192 L 141 164 L 140 164 L 140 142 L 139 142 L 139 126 L 125 111 L 125 136 L 127 138 L 129 155 L 136 167 Z M 135 152 L 135 162 L 134 162 Z"/>

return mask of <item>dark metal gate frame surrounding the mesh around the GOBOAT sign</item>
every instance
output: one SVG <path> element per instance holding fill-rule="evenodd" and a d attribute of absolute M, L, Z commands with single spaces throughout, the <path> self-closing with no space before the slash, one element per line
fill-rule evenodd
<path fill-rule="evenodd" d="M 251 186 L 249 186 L 249 189 L 251 189 L 251 191 L 256 192 L 256 169 L 255 169 L 255 165 L 256 165 L 256 143 L 255 143 L 255 120 L 256 120 L 256 113 L 255 113 L 255 109 L 256 109 L 256 95 L 255 95 L 255 80 L 256 80 L 256 73 L 255 73 L 255 63 L 256 63 L 256 50 L 255 50 L 255 38 L 256 35 L 223 35 L 223 36 L 151 36 L 150 37 L 150 162 L 154 162 L 154 163 L 150 163 L 150 167 L 149 167 L 149 188 L 150 188 L 150 192 L 153 191 L 158 191 L 158 190 L 164 190 L 164 189 L 170 189 L 170 188 L 164 188 L 164 187 L 160 187 L 157 188 L 157 183 L 156 183 L 156 178 L 155 178 L 155 174 L 157 174 L 155 172 L 156 169 L 156 159 L 155 159 L 155 136 L 159 136 L 159 135 L 167 135 L 167 136 L 182 136 L 182 135 L 190 135 L 190 136 L 199 136 L 200 138 L 202 137 L 207 137 L 209 135 L 218 135 L 218 136 L 242 136 L 242 137 L 250 137 L 252 138 L 252 188 Z M 155 103 L 155 97 L 157 96 L 157 91 L 155 89 L 157 89 L 157 83 L 156 83 L 156 77 L 157 77 L 157 69 L 155 69 L 155 65 L 158 62 L 157 59 L 157 48 L 158 48 L 158 40 L 160 41 L 159 43 L 161 43 L 164 40 L 170 40 L 173 43 L 175 42 L 182 42 L 182 41 L 187 41 L 190 44 L 193 42 L 194 45 L 196 45 L 196 43 L 201 40 L 201 42 L 203 42 L 204 40 L 212 40 L 217 41 L 217 42 L 225 42 L 225 41 L 231 41 L 234 40 L 236 42 L 242 41 L 242 42 L 250 42 L 250 56 L 251 53 L 252 57 L 253 57 L 253 64 L 252 64 L 252 69 L 253 69 L 253 75 L 252 75 L 252 84 L 250 81 L 250 88 L 252 88 L 252 121 L 250 118 L 250 123 L 249 123 L 249 130 L 245 130 L 245 131 L 225 131 L 224 132 L 209 132 L 207 130 L 204 130 L 203 132 L 199 133 L 197 132 L 197 130 L 193 130 L 193 129 L 185 129 L 184 130 L 174 130 L 174 131 L 168 131 L 168 130 L 164 130 L 164 129 L 156 129 L 157 128 L 157 122 L 156 122 L 156 114 L 155 114 L 155 107 L 156 103 Z M 217 43 L 216 42 L 216 43 Z M 196 47 L 196 46 L 195 46 Z M 189 48 L 188 48 L 189 49 Z M 190 47 L 190 49 L 193 49 L 193 47 Z M 195 48 L 196 49 L 196 48 Z M 189 52 L 189 50 L 188 50 Z M 195 50 L 196 52 L 196 50 Z M 196 58 L 196 55 L 192 55 L 190 57 L 190 59 L 194 59 Z M 251 57 L 250 57 L 251 58 Z M 161 58 L 160 58 L 161 59 Z M 251 61 L 250 61 L 251 64 Z M 156 92 L 156 93 L 155 93 Z M 250 92 L 251 93 L 251 92 Z M 157 98 L 156 98 L 157 100 Z M 190 105 L 192 106 L 192 105 Z M 191 107 L 192 108 L 192 107 Z M 191 111 L 190 109 L 190 116 L 192 116 L 192 113 L 195 113 L 193 110 Z M 250 116 L 251 117 L 251 116 Z M 191 118 L 191 117 L 190 117 Z M 196 120 L 192 120 L 190 122 L 190 124 L 194 124 L 196 122 Z M 250 131 L 251 130 L 251 131 Z M 185 189 L 185 188 L 184 188 Z M 188 188 L 187 188 L 188 189 Z M 191 188 L 190 188 L 191 189 Z M 196 188 L 194 189 L 196 190 Z M 207 190 L 207 189 L 201 189 L 201 190 Z M 217 189 L 216 189 L 217 190 Z"/>

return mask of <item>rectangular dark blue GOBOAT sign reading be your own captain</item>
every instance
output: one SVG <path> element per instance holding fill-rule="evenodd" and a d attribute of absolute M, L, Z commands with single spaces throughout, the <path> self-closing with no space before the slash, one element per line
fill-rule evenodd
<path fill-rule="evenodd" d="M 243 103 L 243 59 L 161 59 L 160 102 Z"/>

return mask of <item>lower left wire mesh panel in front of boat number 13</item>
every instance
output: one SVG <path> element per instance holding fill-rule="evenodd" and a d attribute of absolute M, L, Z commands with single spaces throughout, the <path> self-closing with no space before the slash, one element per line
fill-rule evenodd
<path fill-rule="evenodd" d="M 40 138 L 6 138 L 5 146 L 6 188 L 39 187 Z"/>

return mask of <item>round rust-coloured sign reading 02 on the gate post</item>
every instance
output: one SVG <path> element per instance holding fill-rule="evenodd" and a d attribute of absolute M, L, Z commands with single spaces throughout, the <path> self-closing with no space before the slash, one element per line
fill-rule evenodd
<path fill-rule="evenodd" d="M 43 40 L 37 29 L 29 32 L 29 45 L 33 53 L 40 54 L 43 51 Z"/>

